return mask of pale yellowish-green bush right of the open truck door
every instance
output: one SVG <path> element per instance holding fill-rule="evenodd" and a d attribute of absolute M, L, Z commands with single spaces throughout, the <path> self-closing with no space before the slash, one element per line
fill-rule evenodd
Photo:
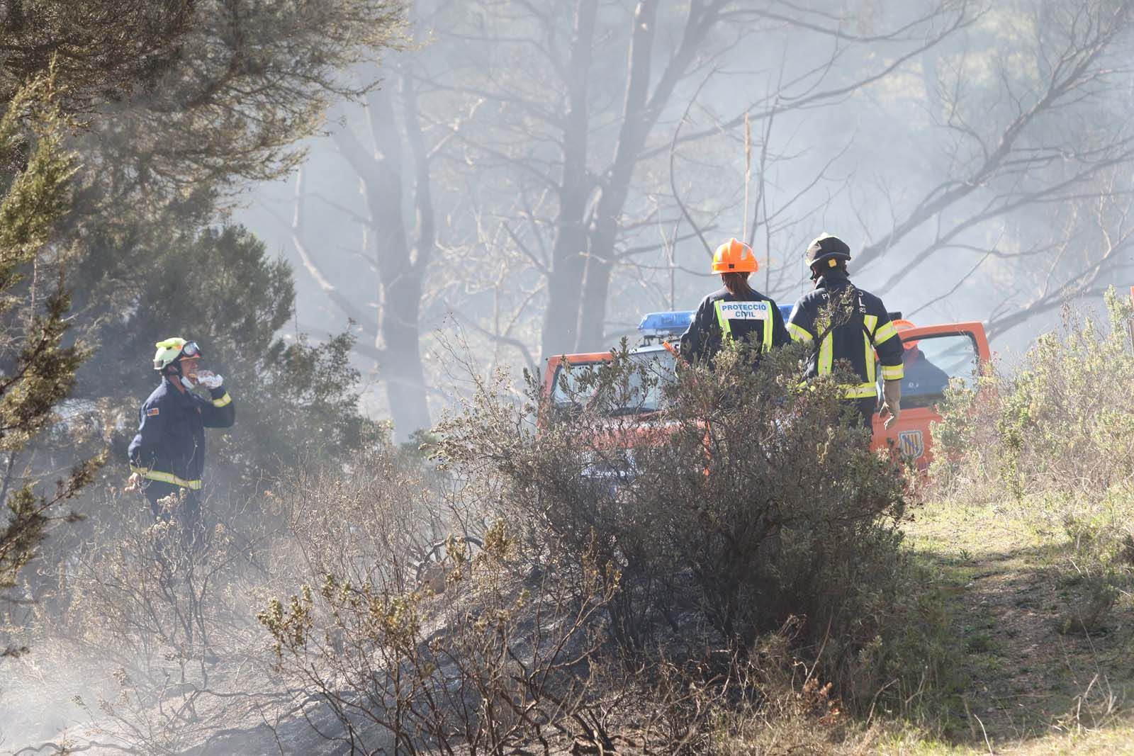
<path fill-rule="evenodd" d="M 1022 500 L 1036 492 L 1101 495 L 1134 481 L 1131 304 L 1106 297 L 1109 328 L 1064 313 L 1016 371 L 954 387 L 933 430 L 932 477 L 948 498 Z"/>

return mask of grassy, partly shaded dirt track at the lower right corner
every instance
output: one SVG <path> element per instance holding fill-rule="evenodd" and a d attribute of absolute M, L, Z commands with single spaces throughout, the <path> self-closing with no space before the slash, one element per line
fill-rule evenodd
<path fill-rule="evenodd" d="M 946 585 L 955 674 L 924 729 L 880 750 L 1134 753 L 1131 597 L 1098 617 L 1052 519 L 1015 504 L 915 510 L 907 544 Z"/>

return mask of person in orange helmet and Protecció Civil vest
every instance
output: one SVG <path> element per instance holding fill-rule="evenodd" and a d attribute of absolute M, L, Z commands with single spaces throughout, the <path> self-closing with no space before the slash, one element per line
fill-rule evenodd
<path fill-rule="evenodd" d="M 687 360 L 711 367 L 726 339 L 745 339 L 764 351 L 792 342 L 776 303 L 748 286 L 748 275 L 759 267 L 752 247 L 743 241 L 731 239 L 717 247 L 712 272 L 720 273 L 725 286 L 701 300 L 682 335 Z"/>

